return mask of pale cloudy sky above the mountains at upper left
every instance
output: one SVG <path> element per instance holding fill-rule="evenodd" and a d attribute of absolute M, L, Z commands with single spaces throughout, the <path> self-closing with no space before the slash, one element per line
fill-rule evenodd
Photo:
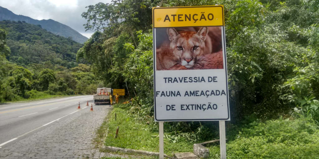
<path fill-rule="evenodd" d="M 111 0 L 0 0 L 0 6 L 37 20 L 53 19 L 90 38 L 93 32 L 85 31 L 86 20 L 81 14 L 87 11 L 86 6 L 99 2 L 111 3 Z"/>

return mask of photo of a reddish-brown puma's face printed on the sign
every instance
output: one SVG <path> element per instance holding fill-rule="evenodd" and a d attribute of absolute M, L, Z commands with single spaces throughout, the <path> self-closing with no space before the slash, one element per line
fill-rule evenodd
<path fill-rule="evenodd" d="M 223 69 L 221 27 L 156 28 L 156 70 Z"/>

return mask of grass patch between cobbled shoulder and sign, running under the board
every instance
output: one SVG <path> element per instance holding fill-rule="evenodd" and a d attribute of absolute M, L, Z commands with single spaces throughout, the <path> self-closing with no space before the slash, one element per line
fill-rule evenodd
<path fill-rule="evenodd" d="M 108 122 L 105 121 L 98 130 L 97 143 L 106 146 L 114 146 L 127 149 L 137 149 L 152 152 L 159 152 L 159 132 L 153 129 L 149 122 L 138 121 L 130 117 L 127 110 L 116 107 L 108 115 Z M 116 113 L 116 121 L 115 121 Z M 153 121 L 154 122 L 154 121 Z M 152 123 L 154 124 L 154 123 Z M 118 136 L 115 138 L 116 128 L 119 126 Z M 107 137 L 105 137 L 107 134 Z M 166 133 L 164 133 L 164 136 Z M 177 152 L 192 152 L 193 143 L 181 138 L 173 143 L 164 138 L 164 153 L 172 156 Z"/>

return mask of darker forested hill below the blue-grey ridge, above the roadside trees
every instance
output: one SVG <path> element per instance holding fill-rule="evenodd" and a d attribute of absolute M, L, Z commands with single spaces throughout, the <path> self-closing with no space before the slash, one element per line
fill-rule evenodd
<path fill-rule="evenodd" d="M 49 32 L 39 25 L 10 20 L 0 21 L 0 29 L 6 36 L 11 54 L 10 62 L 21 66 L 49 64 L 52 67 L 72 68 L 77 66 L 76 53 L 83 46 L 71 38 L 64 38 Z"/>

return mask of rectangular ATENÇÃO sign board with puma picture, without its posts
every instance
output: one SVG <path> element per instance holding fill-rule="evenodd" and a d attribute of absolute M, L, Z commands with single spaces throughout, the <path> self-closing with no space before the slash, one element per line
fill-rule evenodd
<path fill-rule="evenodd" d="M 223 5 L 152 11 L 155 121 L 230 120 Z"/>

